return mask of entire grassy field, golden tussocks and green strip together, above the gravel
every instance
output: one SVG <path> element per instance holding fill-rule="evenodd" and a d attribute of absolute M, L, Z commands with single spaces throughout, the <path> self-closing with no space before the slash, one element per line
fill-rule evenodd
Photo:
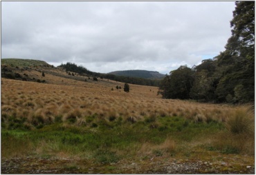
<path fill-rule="evenodd" d="M 156 87 L 130 85 L 127 93 L 124 83 L 107 79 L 77 81 L 47 73 L 42 77 L 37 70 L 22 73 L 46 83 L 1 79 L 1 161 L 68 158 L 102 165 L 101 173 L 120 173 L 118 163 L 221 164 L 232 157 L 220 172 L 243 173 L 247 165 L 254 169 L 255 122 L 250 105 L 161 99 Z M 116 85 L 122 89 L 116 90 Z M 80 172 L 76 163 L 63 168 Z"/>

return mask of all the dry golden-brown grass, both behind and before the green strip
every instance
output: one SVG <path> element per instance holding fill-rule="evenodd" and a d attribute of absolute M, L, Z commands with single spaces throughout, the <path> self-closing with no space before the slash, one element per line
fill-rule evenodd
<path fill-rule="evenodd" d="M 199 123 L 199 125 L 200 123 L 206 123 L 205 125 L 210 126 L 212 124 L 211 122 L 216 124 L 216 121 L 226 123 L 227 130 L 219 131 L 217 129 L 218 132 L 214 130 L 213 134 L 209 131 L 208 133 L 201 133 L 199 130 L 196 130 L 195 133 L 200 134 L 200 136 L 193 135 L 194 138 L 192 141 L 186 141 L 186 135 L 189 134 L 185 133 L 185 131 L 182 131 L 183 137 L 185 138 L 174 136 L 173 139 L 172 135 L 167 135 L 157 143 L 152 142 L 149 138 L 141 138 L 136 143 L 130 144 L 130 147 L 111 147 L 108 150 L 109 152 L 105 152 L 106 155 L 102 159 L 111 157 L 111 152 L 116 152 L 112 155 L 113 158 L 115 158 L 115 155 L 127 157 L 134 155 L 134 157 L 138 158 L 152 158 L 152 156 L 157 157 L 162 155 L 185 155 L 186 157 L 194 156 L 199 159 L 208 156 L 209 149 L 225 154 L 241 153 L 253 155 L 255 152 L 255 140 L 253 139 L 254 115 L 253 112 L 248 112 L 247 106 L 161 99 L 161 96 L 157 96 L 158 88 L 143 85 L 131 84 L 130 92 L 127 93 L 123 90 L 115 89 L 116 85 L 122 87 L 124 83 L 108 81 L 106 79 L 98 82 L 83 82 L 65 78 L 60 79 L 57 76 L 47 74 L 45 79 L 46 82 L 50 83 L 1 79 L 2 124 L 8 123 L 12 118 L 26 119 L 24 125 L 27 128 L 35 128 L 40 127 L 42 124 L 48 125 L 65 121 L 61 123 L 65 130 L 73 130 L 70 127 L 79 127 L 79 130 L 89 128 L 93 132 L 96 130 L 91 126 L 102 121 L 107 121 L 111 125 L 111 120 L 118 121 L 122 119 L 122 121 L 133 120 L 147 123 L 146 121 L 148 119 L 151 120 L 147 123 L 149 127 L 144 126 L 143 130 L 154 133 L 153 130 L 159 132 L 158 129 L 161 129 L 165 125 L 165 123 L 161 123 L 161 120 L 158 119 L 167 121 L 175 117 L 170 118 L 164 116 L 177 116 L 176 118 L 183 117 L 193 121 L 194 125 L 197 125 L 195 123 Z M 111 88 L 114 90 L 111 91 Z M 237 125 L 239 123 L 246 124 Z M 6 128 L 8 129 L 7 126 Z M 137 125 L 137 130 L 139 126 Z M 234 134 L 232 132 L 232 127 L 234 126 L 241 127 L 244 132 Z M 47 126 L 44 128 L 47 129 Z M 132 128 L 132 126 L 129 128 Z M 169 126 L 169 128 L 171 127 Z M 126 129 L 123 130 L 126 131 Z M 202 130 L 205 130 L 205 128 Z M 131 132 L 131 134 L 134 133 L 136 132 Z M 161 132 L 159 133 L 162 134 Z M 179 134 L 179 131 L 174 133 Z M 116 134 L 116 137 L 119 137 L 119 135 Z M 12 144 L 12 147 L 8 147 L 8 141 L 12 141 L 15 144 Z M 96 150 L 96 153 L 93 151 L 90 152 L 89 150 L 84 152 L 84 150 L 79 150 L 82 149 L 81 147 L 77 147 L 77 150 L 75 150 L 76 147 L 73 147 L 73 145 L 64 147 L 63 144 L 60 144 L 60 141 L 42 141 L 42 143 L 37 144 L 36 148 L 27 143 L 26 139 L 8 138 L 3 140 L 1 148 L 6 152 L 6 154 L 3 153 L 3 157 L 8 158 L 25 155 L 29 150 L 34 150 L 37 154 L 82 155 L 86 158 L 93 156 L 97 152 L 99 155 L 102 154 L 98 150 Z M 205 148 L 205 145 L 208 148 Z"/>

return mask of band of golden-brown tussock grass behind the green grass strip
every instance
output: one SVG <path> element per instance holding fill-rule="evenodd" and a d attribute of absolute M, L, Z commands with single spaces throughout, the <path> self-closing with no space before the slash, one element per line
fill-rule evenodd
<path fill-rule="evenodd" d="M 156 87 L 130 85 L 129 93 L 111 91 L 111 87 L 122 86 L 123 83 L 107 80 L 88 83 L 65 79 L 66 85 L 10 79 L 1 81 L 1 114 L 26 117 L 28 121 L 33 116 L 41 116 L 48 121 L 55 116 L 66 120 L 70 115 L 79 119 L 95 114 L 104 119 L 116 116 L 123 119 L 133 117 L 139 121 L 145 116 L 184 116 L 195 122 L 210 122 L 226 121 L 234 109 L 229 105 L 161 99 L 156 95 Z"/>

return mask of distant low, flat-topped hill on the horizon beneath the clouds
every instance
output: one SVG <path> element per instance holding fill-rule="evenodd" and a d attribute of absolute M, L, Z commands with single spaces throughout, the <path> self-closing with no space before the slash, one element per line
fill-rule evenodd
<path fill-rule="evenodd" d="M 118 76 L 130 76 L 142 79 L 163 79 L 165 77 L 164 74 L 160 74 L 156 71 L 148 71 L 148 70 L 120 70 L 109 72 L 108 74 L 115 74 Z"/>

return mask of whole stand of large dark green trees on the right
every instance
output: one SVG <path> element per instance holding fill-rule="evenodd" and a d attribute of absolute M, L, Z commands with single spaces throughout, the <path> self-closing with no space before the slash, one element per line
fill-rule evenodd
<path fill-rule="evenodd" d="M 163 98 L 213 103 L 255 101 L 255 1 L 236 1 L 235 5 L 226 50 L 200 65 L 182 65 L 166 75 L 158 91 Z"/>

